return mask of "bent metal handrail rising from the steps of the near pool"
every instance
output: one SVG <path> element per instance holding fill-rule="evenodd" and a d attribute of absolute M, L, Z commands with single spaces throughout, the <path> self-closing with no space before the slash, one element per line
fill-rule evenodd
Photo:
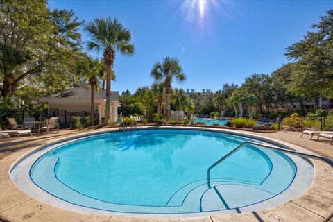
<path fill-rule="evenodd" d="M 208 188 L 211 188 L 210 187 L 210 171 L 211 171 L 211 169 L 213 169 L 214 167 L 216 167 L 216 165 L 220 164 L 223 160 L 225 160 L 228 157 L 230 157 L 230 155 L 236 153 L 240 148 L 242 148 L 243 146 L 246 146 L 248 144 L 254 145 L 254 146 L 262 146 L 262 147 L 268 148 L 268 149 L 273 150 L 273 151 L 281 151 L 283 153 L 290 153 L 290 154 L 298 155 L 300 157 L 314 158 L 314 159 L 317 159 L 317 160 L 321 160 L 321 161 L 327 162 L 327 164 L 330 164 L 330 166 L 333 167 L 333 161 L 330 160 L 327 157 L 322 157 L 321 155 L 310 154 L 310 153 L 302 153 L 302 152 L 298 152 L 298 151 L 289 150 L 287 148 L 279 148 L 277 146 L 271 146 L 271 145 L 267 145 L 267 144 L 259 144 L 259 143 L 256 143 L 256 142 L 250 142 L 250 141 L 248 141 L 248 142 L 244 142 L 243 144 L 237 146 L 230 153 L 228 153 L 227 155 L 223 156 L 220 160 L 216 161 L 214 164 L 212 164 L 212 166 L 208 167 L 208 169 L 207 169 L 207 184 L 208 184 Z"/>

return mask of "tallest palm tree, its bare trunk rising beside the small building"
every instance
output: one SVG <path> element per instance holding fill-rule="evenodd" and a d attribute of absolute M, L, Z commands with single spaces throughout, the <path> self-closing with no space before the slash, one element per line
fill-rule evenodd
<path fill-rule="evenodd" d="M 127 28 L 111 17 L 94 19 L 87 26 L 85 31 L 90 36 L 87 47 L 91 51 L 103 51 L 103 60 L 106 69 L 106 105 L 105 105 L 105 124 L 110 117 L 110 94 L 111 94 L 111 75 L 116 58 L 116 51 L 130 56 L 134 53 L 132 34 Z"/>

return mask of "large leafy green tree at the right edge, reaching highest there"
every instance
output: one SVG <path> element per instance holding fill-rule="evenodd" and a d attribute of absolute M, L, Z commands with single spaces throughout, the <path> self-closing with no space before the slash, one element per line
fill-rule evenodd
<path fill-rule="evenodd" d="M 316 32 L 308 32 L 300 42 L 286 48 L 285 55 L 298 67 L 291 85 L 305 96 L 315 92 L 333 98 L 333 10 L 326 13 L 312 26 Z"/>

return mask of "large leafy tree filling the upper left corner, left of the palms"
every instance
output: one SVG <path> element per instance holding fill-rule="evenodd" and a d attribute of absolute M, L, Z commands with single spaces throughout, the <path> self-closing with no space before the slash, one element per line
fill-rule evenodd
<path fill-rule="evenodd" d="M 78 22 L 73 11 L 49 10 L 46 5 L 44 0 L 0 3 L 3 97 L 15 94 L 28 77 L 52 79 L 49 74 L 57 68 L 75 68 L 73 60 L 82 49 L 78 32 L 82 22 Z"/>

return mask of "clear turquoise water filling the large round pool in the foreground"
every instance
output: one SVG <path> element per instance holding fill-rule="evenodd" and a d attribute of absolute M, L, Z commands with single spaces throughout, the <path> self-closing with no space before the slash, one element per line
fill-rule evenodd
<path fill-rule="evenodd" d="M 53 196 L 103 210 L 228 210 L 279 194 L 296 173 L 286 155 L 246 146 L 212 169 L 212 187 L 228 205 L 220 203 L 207 187 L 207 168 L 247 140 L 198 130 L 106 133 L 47 152 L 33 164 L 31 178 Z"/>

